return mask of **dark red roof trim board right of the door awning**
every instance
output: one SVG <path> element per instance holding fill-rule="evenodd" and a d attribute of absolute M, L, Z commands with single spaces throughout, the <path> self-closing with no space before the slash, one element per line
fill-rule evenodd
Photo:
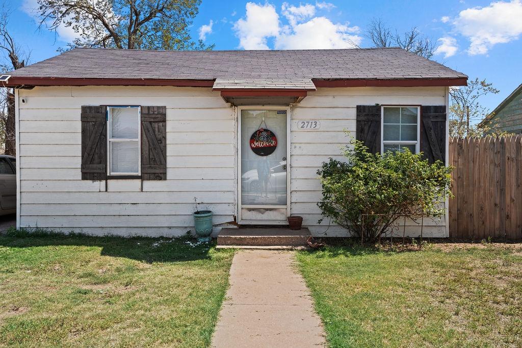
<path fill-rule="evenodd" d="M 467 86 L 466 77 L 452 79 L 312 79 L 315 87 L 429 87 L 429 86 Z"/>

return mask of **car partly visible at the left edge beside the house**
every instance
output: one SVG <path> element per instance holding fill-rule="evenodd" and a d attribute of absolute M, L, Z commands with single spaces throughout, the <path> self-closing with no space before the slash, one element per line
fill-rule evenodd
<path fill-rule="evenodd" d="M 0 215 L 16 213 L 16 158 L 0 155 Z"/>

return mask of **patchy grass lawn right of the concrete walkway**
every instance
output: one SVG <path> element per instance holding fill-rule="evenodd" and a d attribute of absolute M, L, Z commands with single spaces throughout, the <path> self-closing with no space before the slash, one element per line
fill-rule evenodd
<path fill-rule="evenodd" d="M 331 347 L 522 346 L 522 246 L 298 253 Z"/>

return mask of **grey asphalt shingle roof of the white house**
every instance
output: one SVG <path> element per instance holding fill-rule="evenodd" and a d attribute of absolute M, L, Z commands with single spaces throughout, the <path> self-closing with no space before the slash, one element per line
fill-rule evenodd
<path fill-rule="evenodd" d="M 74 49 L 9 73 L 13 77 L 213 80 L 466 78 L 442 64 L 386 49 L 139 51 Z M 301 83 L 300 82 L 300 83 Z"/>

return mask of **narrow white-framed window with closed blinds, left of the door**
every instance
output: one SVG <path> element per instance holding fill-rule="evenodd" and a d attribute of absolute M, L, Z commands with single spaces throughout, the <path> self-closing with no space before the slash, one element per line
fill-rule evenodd
<path fill-rule="evenodd" d="M 139 175 L 140 107 L 111 106 L 108 121 L 109 175 Z"/>

